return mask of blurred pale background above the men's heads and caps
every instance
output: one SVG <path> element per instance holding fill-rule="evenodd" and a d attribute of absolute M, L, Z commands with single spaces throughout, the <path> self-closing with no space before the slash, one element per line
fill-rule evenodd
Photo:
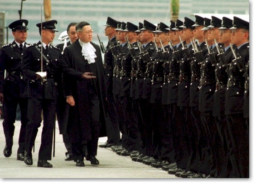
<path fill-rule="evenodd" d="M 45 1 L 45 2 L 44 2 Z M 44 6 L 46 3 L 46 7 Z M 170 20 L 184 17 L 195 20 L 194 14 L 202 14 L 211 18 L 213 14 L 245 15 L 249 21 L 249 0 L 0 0 L 0 47 L 1 44 L 13 41 L 10 23 L 17 19 L 27 19 L 28 43 L 38 42 L 39 31 L 36 27 L 41 22 L 50 19 L 58 21 L 53 45 L 61 43 L 60 33 L 67 29 L 71 22 L 87 21 L 94 30 L 93 42 L 99 44 L 97 34 L 104 46 L 107 44 L 103 24 L 110 16 L 123 22 L 138 25 L 144 19 L 153 24 L 163 22 L 169 25 Z"/>

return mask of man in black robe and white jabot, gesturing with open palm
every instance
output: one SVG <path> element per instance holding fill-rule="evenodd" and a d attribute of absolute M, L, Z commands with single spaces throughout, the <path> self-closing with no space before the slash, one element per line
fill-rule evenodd
<path fill-rule="evenodd" d="M 76 166 L 84 165 L 84 148 L 87 146 L 86 160 L 99 165 L 97 144 L 100 127 L 105 124 L 106 87 L 101 50 L 92 42 L 92 27 L 87 22 L 76 26 L 78 40 L 64 49 L 61 61 L 63 69 L 64 95 L 69 110 L 67 132 L 72 142 L 73 160 Z"/>

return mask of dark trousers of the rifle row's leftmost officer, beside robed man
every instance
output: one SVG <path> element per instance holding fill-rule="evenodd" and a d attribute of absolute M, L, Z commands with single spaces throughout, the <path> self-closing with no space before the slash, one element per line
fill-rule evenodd
<path fill-rule="evenodd" d="M 114 102 L 113 94 L 107 95 L 107 112 L 110 118 L 110 121 L 106 119 L 106 135 L 107 135 L 107 142 L 113 144 L 119 144 L 120 142 L 120 129 L 116 106 Z"/>

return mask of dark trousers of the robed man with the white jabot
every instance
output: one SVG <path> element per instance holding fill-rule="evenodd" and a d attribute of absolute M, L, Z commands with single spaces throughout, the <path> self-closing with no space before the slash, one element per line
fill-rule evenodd
<path fill-rule="evenodd" d="M 80 142 L 72 142 L 72 154 L 74 161 L 83 160 L 85 147 L 87 147 L 88 156 L 97 155 L 98 140 L 100 135 L 100 100 L 97 95 L 89 95 L 89 105 L 90 107 L 90 124 L 91 124 L 91 136 L 92 139 L 87 142 L 87 144 L 82 144 L 83 140 Z M 82 130 L 81 130 L 82 131 Z"/>

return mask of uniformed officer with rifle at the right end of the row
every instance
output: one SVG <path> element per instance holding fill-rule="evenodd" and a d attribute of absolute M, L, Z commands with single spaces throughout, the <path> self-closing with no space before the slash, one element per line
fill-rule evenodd
<path fill-rule="evenodd" d="M 225 93 L 225 115 L 230 141 L 229 159 L 232 160 L 232 176 L 249 178 L 249 122 L 243 114 L 245 77 L 244 67 L 249 61 L 249 22 L 234 16 L 231 43 L 237 45 L 240 59 L 229 66 Z M 241 70 L 242 69 L 242 70 Z M 248 86 L 247 86 L 248 87 Z M 249 104 L 246 104 L 249 105 Z"/>

